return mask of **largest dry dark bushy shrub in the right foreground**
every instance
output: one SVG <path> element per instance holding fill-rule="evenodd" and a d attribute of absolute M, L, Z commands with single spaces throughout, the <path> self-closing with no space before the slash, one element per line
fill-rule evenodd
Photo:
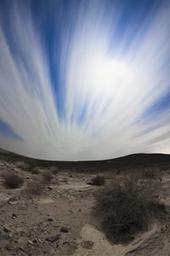
<path fill-rule="evenodd" d="M 116 177 L 96 195 L 94 214 L 115 243 L 130 241 L 149 227 L 152 217 L 165 213 L 165 206 L 155 199 L 155 186 L 137 176 Z"/>

